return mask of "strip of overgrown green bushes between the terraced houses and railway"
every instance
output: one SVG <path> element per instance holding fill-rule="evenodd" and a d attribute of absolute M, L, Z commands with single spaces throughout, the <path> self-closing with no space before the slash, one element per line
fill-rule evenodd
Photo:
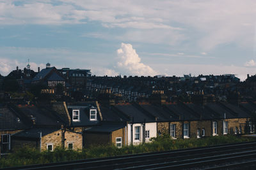
<path fill-rule="evenodd" d="M 163 135 L 153 138 L 151 143 L 144 143 L 138 146 L 125 146 L 116 148 L 115 146 L 95 146 L 84 150 L 63 150 L 56 148 L 54 152 L 42 152 L 33 148 L 21 148 L 13 151 L 12 154 L 0 159 L 1 167 L 24 166 L 30 164 L 47 164 L 51 162 L 63 162 L 68 160 L 89 159 L 98 157 L 113 157 L 132 153 L 159 152 L 164 150 L 177 150 L 182 148 L 212 146 L 226 143 L 239 143 L 253 141 L 253 138 L 239 138 L 236 136 L 214 136 L 202 139 L 177 139 Z"/>

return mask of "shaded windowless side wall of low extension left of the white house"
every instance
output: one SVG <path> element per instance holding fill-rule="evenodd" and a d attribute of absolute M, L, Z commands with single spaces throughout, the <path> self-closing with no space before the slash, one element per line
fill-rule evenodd
<path fill-rule="evenodd" d="M 85 132 L 84 133 L 84 145 L 90 147 L 93 145 L 110 145 L 111 134 L 100 132 Z"/>

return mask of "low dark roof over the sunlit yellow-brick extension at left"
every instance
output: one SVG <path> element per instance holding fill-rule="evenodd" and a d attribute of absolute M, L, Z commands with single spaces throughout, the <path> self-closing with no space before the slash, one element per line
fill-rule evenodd
<path fill-rule="evenodd" d="M 25 131 L 17 132 L 13 134 L 14 137 L 22 137 L 22 138 L 40 138 L 40 132 L 42 132 L 42 136 L 47 134 L 51 134 L 52 132 L 58 131 L 60 129 L 56 128 L 31 128 Z"/>

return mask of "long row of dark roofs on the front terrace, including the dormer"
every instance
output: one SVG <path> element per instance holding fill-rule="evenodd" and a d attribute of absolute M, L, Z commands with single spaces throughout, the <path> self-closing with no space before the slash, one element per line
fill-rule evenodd
<path fill-rule="evenodd" d="M 96 120 L 90 120 L 90 110 L 97 110 Z M 79 110 L 79 121 L 72 121 L 73 110 Z M 95 103 L 56 103 L 51 106 L 13 105 L 0 108 L 0 130 L 29 127 L 90 127 L 102 122 L 176 122 L 183 120 L 218 120 L 249 118 L 256 113 L 256 104 L 240 103 L 122 103 L 98 105 Z"/>

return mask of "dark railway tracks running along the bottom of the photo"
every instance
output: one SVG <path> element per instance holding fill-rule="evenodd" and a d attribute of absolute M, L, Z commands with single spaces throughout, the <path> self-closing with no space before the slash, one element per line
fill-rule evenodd
<path fill-rule="evenodd" d="M 236 169 L 256 165 L 256 142 L 84 159 L 11 169 Z"/>

